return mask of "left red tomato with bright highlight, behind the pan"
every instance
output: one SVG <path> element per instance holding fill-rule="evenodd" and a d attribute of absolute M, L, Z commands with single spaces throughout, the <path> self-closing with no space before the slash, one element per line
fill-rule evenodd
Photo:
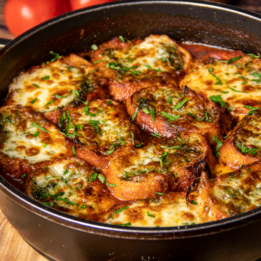
<path fill-rule="evenodd" d="M 4 21 L 9 31 L 18 36 L 31 27 L 70 11 L 67 0 L 7 0 Z"/>

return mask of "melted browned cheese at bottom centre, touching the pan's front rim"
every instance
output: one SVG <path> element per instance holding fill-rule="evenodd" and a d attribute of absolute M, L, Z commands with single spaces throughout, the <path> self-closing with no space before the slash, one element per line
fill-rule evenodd
<path fill-rule="evenodd" d="M 202 204 L 197 199 L 197 205 L 187 207 L 184 195 L 176 193 L 172 199 L 158 198 L 154 200 L 136 201 L 118 214 L 113 214 L 106 221 L 109 224 L 119 224 L 137 227 L 171 227 L 190 226 L 202 223 Z"/>

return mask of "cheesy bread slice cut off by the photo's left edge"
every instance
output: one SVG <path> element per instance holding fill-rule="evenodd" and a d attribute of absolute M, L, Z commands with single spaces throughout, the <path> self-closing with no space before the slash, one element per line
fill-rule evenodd
<path fill-rule="evenodd" d="M 40 113 L 21 105 L 0 107 L 0 165 L 19 179 L 48 161 L 71 157 L 72 143 Z"/>

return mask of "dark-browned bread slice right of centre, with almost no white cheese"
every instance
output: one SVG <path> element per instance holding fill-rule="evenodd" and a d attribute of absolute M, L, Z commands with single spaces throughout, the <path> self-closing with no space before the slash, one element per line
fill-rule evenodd
<path fill-rule="evenodd" d="M 231 128 L 225 110 L 213 101 L 206 101 L 185 87 L 184 92 L 173 86 L 154 86 L 139 90 L 126 102 L 130 117 L 142 128 L 158 132 L 164 137 L 191 131 L 206 137 L 213 147 L 213 139 L 222 139 Z"/>

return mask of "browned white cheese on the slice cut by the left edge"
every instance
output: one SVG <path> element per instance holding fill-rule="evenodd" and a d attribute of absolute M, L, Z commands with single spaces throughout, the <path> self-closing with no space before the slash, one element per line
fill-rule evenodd
<path fill-rule="evenodd" d="M 22 115 L 24 112 L 12 113 L 4 107 L 0 111 L 0 152 L 13 159 L 28 160 L 28 164 L 51 160 L 68 152 L 65 138 L 54 125 L 26 117 Z"/>

